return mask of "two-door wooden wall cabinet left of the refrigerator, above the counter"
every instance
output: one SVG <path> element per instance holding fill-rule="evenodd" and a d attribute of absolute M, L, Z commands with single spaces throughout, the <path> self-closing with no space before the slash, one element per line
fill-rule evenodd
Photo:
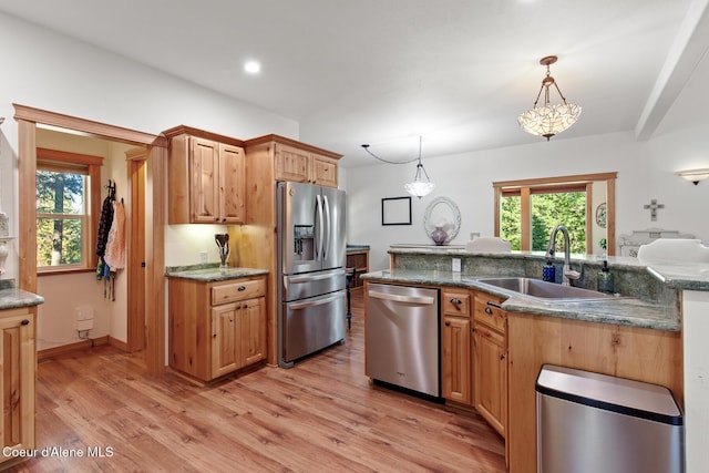
<path fill-rule="evenodd" d="M 168 223 L 245 223 L 243 142 L 185 126 L 164 134 L 169 140 Z"/>

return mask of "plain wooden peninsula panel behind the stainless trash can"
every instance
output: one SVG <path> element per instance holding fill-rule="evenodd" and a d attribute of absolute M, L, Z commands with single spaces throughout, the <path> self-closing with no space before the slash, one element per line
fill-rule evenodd
<path fill-rule="evenodd" d="M 681 403 L 680 332 L 508 312 L 510 472 L 536 472 L 535 382 L 544 363 L 667 387 Z"/>

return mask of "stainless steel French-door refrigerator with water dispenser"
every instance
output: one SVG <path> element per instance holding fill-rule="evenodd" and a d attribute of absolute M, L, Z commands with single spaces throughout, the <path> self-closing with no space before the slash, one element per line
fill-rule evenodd
<path fill-rule="evenodd" d="M 345 340 L 343 191 L 278 183 L 278 364 Z"/>

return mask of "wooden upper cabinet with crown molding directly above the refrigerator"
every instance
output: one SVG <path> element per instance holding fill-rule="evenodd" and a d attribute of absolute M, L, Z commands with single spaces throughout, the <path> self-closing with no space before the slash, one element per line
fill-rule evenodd
<path fill-rule="evenodd" d="M 276 181 L 337 187 L 337 162 L 341 155 L 278 135 L 247 141 L 247 153 L 264 145 L 273 154 Z"/>

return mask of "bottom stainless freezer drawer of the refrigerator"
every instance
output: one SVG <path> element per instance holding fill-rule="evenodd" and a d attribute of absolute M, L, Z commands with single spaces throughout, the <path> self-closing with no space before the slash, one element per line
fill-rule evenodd
<path fill-rule="evenodd" d="M 284 304 L 284 361 L 316 352 L 345 339 L 346 291 Z"/>

